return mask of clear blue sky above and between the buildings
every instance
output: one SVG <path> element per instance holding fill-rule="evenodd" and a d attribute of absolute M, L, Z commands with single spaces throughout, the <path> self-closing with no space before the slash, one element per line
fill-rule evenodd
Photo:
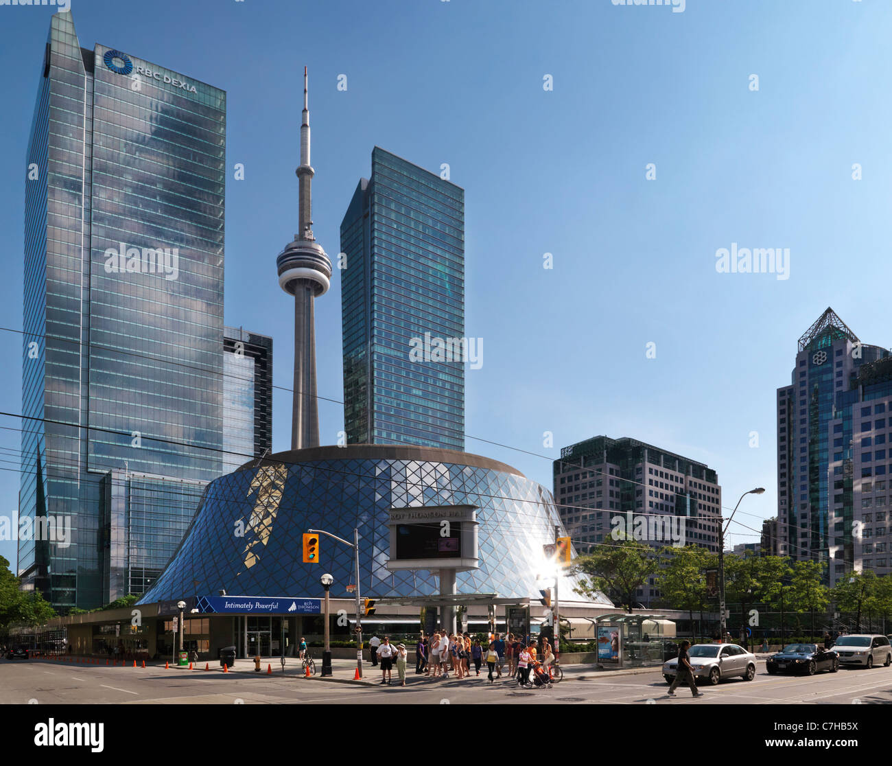
<path fill-rule="evenodd" d="M 292 382 L 293 304 L 275 259 L 297 226 L 304 64 L 314 231 L 329 254 L 375 145 L 432 171 L 448 162 L 466 190 L 466 332 L 484 350 L 467 371 L 468 452 L 550 487 L 562 445 L 635 437 L 708 463 L 726 506 L 764 486 L 741 505 L 754 515 L 738 516 L 758 528 L 776 512 L 774 397 L 797 338 L 831 305 L 865 343 L 892 342 L 884 0 L 687 0 L 681 13 L 610 0 L 71 10 L 82 46 L 227 91 L 226 321 L 274 337 L 278 386 Z M 4 328 L 21 329 L 25 152 L 52 12 L 0 7 Z M 789 279 L 718 273 L 716 250 L 731 243 L 789 248 Z M 318 391 L 340 399 L 337 277 L 316 311 Z M 21 412 L 21 336 L 0 330 L 0 354 L 0 410 Z M 290 406 L 277 390 L 277 450 Z M 320 402 L 319 417 L 334 443 L 341 405 Z M 0 515 L 13 518 L 18 448 L 18 432 L 0 430 Z M 734 531 L 731 544 L 757 539 Z M 14 543 L 0 555 L 14 562 Z"/>

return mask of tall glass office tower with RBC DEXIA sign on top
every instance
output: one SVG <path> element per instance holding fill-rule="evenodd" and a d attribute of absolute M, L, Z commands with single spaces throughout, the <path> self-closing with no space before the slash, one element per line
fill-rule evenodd
<path fill-rule="evenodd" d="M 110 592 L 127 554 L 105 503 L 121 471 L 222 472 L 226 94 L 81 48 L 53 16 L 28 158 L 20 514 L 70 518 L 19 572 L 62 609 Z M 165 509 L 167 514 L 165 514 Z M 156 529 L 181 504 L 157 504 Z M 151 535 L 146 545 L 152 545 Z M 113 588 L 111 588 L 113 590 Z"/>

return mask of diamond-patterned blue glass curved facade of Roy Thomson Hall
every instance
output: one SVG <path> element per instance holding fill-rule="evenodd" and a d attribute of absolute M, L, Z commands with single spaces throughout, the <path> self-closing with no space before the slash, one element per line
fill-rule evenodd
<path fill-rule="evenodd" d="M 322 537 L 319 566 L 301 562 L 301 542 L 308 529 L 352 540 L 354 527 L 363 596 L 435 595 L 434 573 L 387 570 L 388 510 L 459 504 L 478 509 L 480 568 L 458 573 L 458 593 L 538 598 L 542 545 L 554 542 L 560 525 L 545 487 L 474 455 L 467 462 L 462 453 L 450 453 L 455 462 L 398 459 L 384 456 L 384 447 L 381 457 L 369 457 L 375 449 L 321 447 L 313 456 L 326 457 L 306 461 L 280 453 L 212 481 L 177 554 L 141 603 L 216 595 L 220 588 L 230 595 L 318 596 L 323 571 L 335 578 L 334 597 L 350 597 L 351 548 Z M 572 595 L 576 585 L 572 577 L 561 580 L 565 598 L 582 600 Z"/>

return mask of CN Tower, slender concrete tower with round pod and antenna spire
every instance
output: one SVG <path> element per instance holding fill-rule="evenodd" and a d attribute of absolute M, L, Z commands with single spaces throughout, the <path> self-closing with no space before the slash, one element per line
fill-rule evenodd
<path fill-rule="evenodd" d="M 330 284 L 332 262 L 313 236 L 310 184 L 310 110 L 307 107 L 307 68 L 303 68 L 301 164 L 297 168 L 298 233 L 276 259 L 279 287 L 294 296 L 294 397 L 291 416 L 291 448 L 319 445 L 319 413 L 316 398 L 316 327 L 313 300 Z"/>

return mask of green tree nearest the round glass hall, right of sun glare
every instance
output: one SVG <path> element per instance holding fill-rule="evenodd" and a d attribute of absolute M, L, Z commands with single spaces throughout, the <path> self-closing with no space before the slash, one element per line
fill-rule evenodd
<path fill-rule="evenodd" d="M 657 560 L 648 545 L 621 539 L 579 556 L 573 571 L 583 575 L 577 594 L 593 598 L 603 591 L 631 613 L 635 592 L 657 571 Z"/>

